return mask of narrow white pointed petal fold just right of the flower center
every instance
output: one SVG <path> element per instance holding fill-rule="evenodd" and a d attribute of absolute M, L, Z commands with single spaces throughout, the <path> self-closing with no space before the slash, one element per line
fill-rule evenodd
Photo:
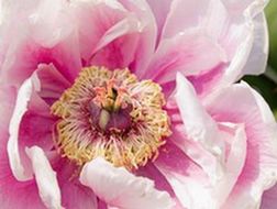
<path fill-rule="evenodd" d="M 206 112 L 192 85 L 179 73 L 176 80 L 177 92 L 175 98 L 185 123 L 187 136 L 201 143 L 214 155 L 221 156 L 224 153 L 224 144 L 220 139 L 215 121 Z"/>

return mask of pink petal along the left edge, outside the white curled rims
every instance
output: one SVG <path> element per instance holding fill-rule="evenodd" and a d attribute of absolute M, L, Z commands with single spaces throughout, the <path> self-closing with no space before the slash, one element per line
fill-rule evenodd
<path fill-rule="evenodd" d="M 0 90 L 0 202 L 5 209 L 21 208 L 29 206 L 29 209 L 45 209 L 38 197 L 37 187 L 34 180 L 19 183 L 11 173 L 7 153 L 9 139 L 9 121 L 15 103 L 15 89 L 3 88 Z"/>

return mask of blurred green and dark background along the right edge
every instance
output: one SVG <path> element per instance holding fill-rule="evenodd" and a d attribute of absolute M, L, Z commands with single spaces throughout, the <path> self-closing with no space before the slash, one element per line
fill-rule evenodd
<path fill-rule="evenodd" d="M 277 0 L 272 0 L 266 8 L 269 29 L 269 59 L 267 70 L 262 76 L 246 76 L 244 80 L 258 90 L 269 103 L 277 119 Z"/>

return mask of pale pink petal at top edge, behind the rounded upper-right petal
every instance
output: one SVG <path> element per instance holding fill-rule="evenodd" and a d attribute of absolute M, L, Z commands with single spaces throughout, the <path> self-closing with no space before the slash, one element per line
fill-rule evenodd
<path fill-rule="evenodd" d="M 226 10 L 220 0 L 174 0 L 164 25 L 163 38 L 173 37 L 192 28 L 211 30 L 210 26 L 212 26 L 213 32 L 220 32 L 225 18 Z"/>

